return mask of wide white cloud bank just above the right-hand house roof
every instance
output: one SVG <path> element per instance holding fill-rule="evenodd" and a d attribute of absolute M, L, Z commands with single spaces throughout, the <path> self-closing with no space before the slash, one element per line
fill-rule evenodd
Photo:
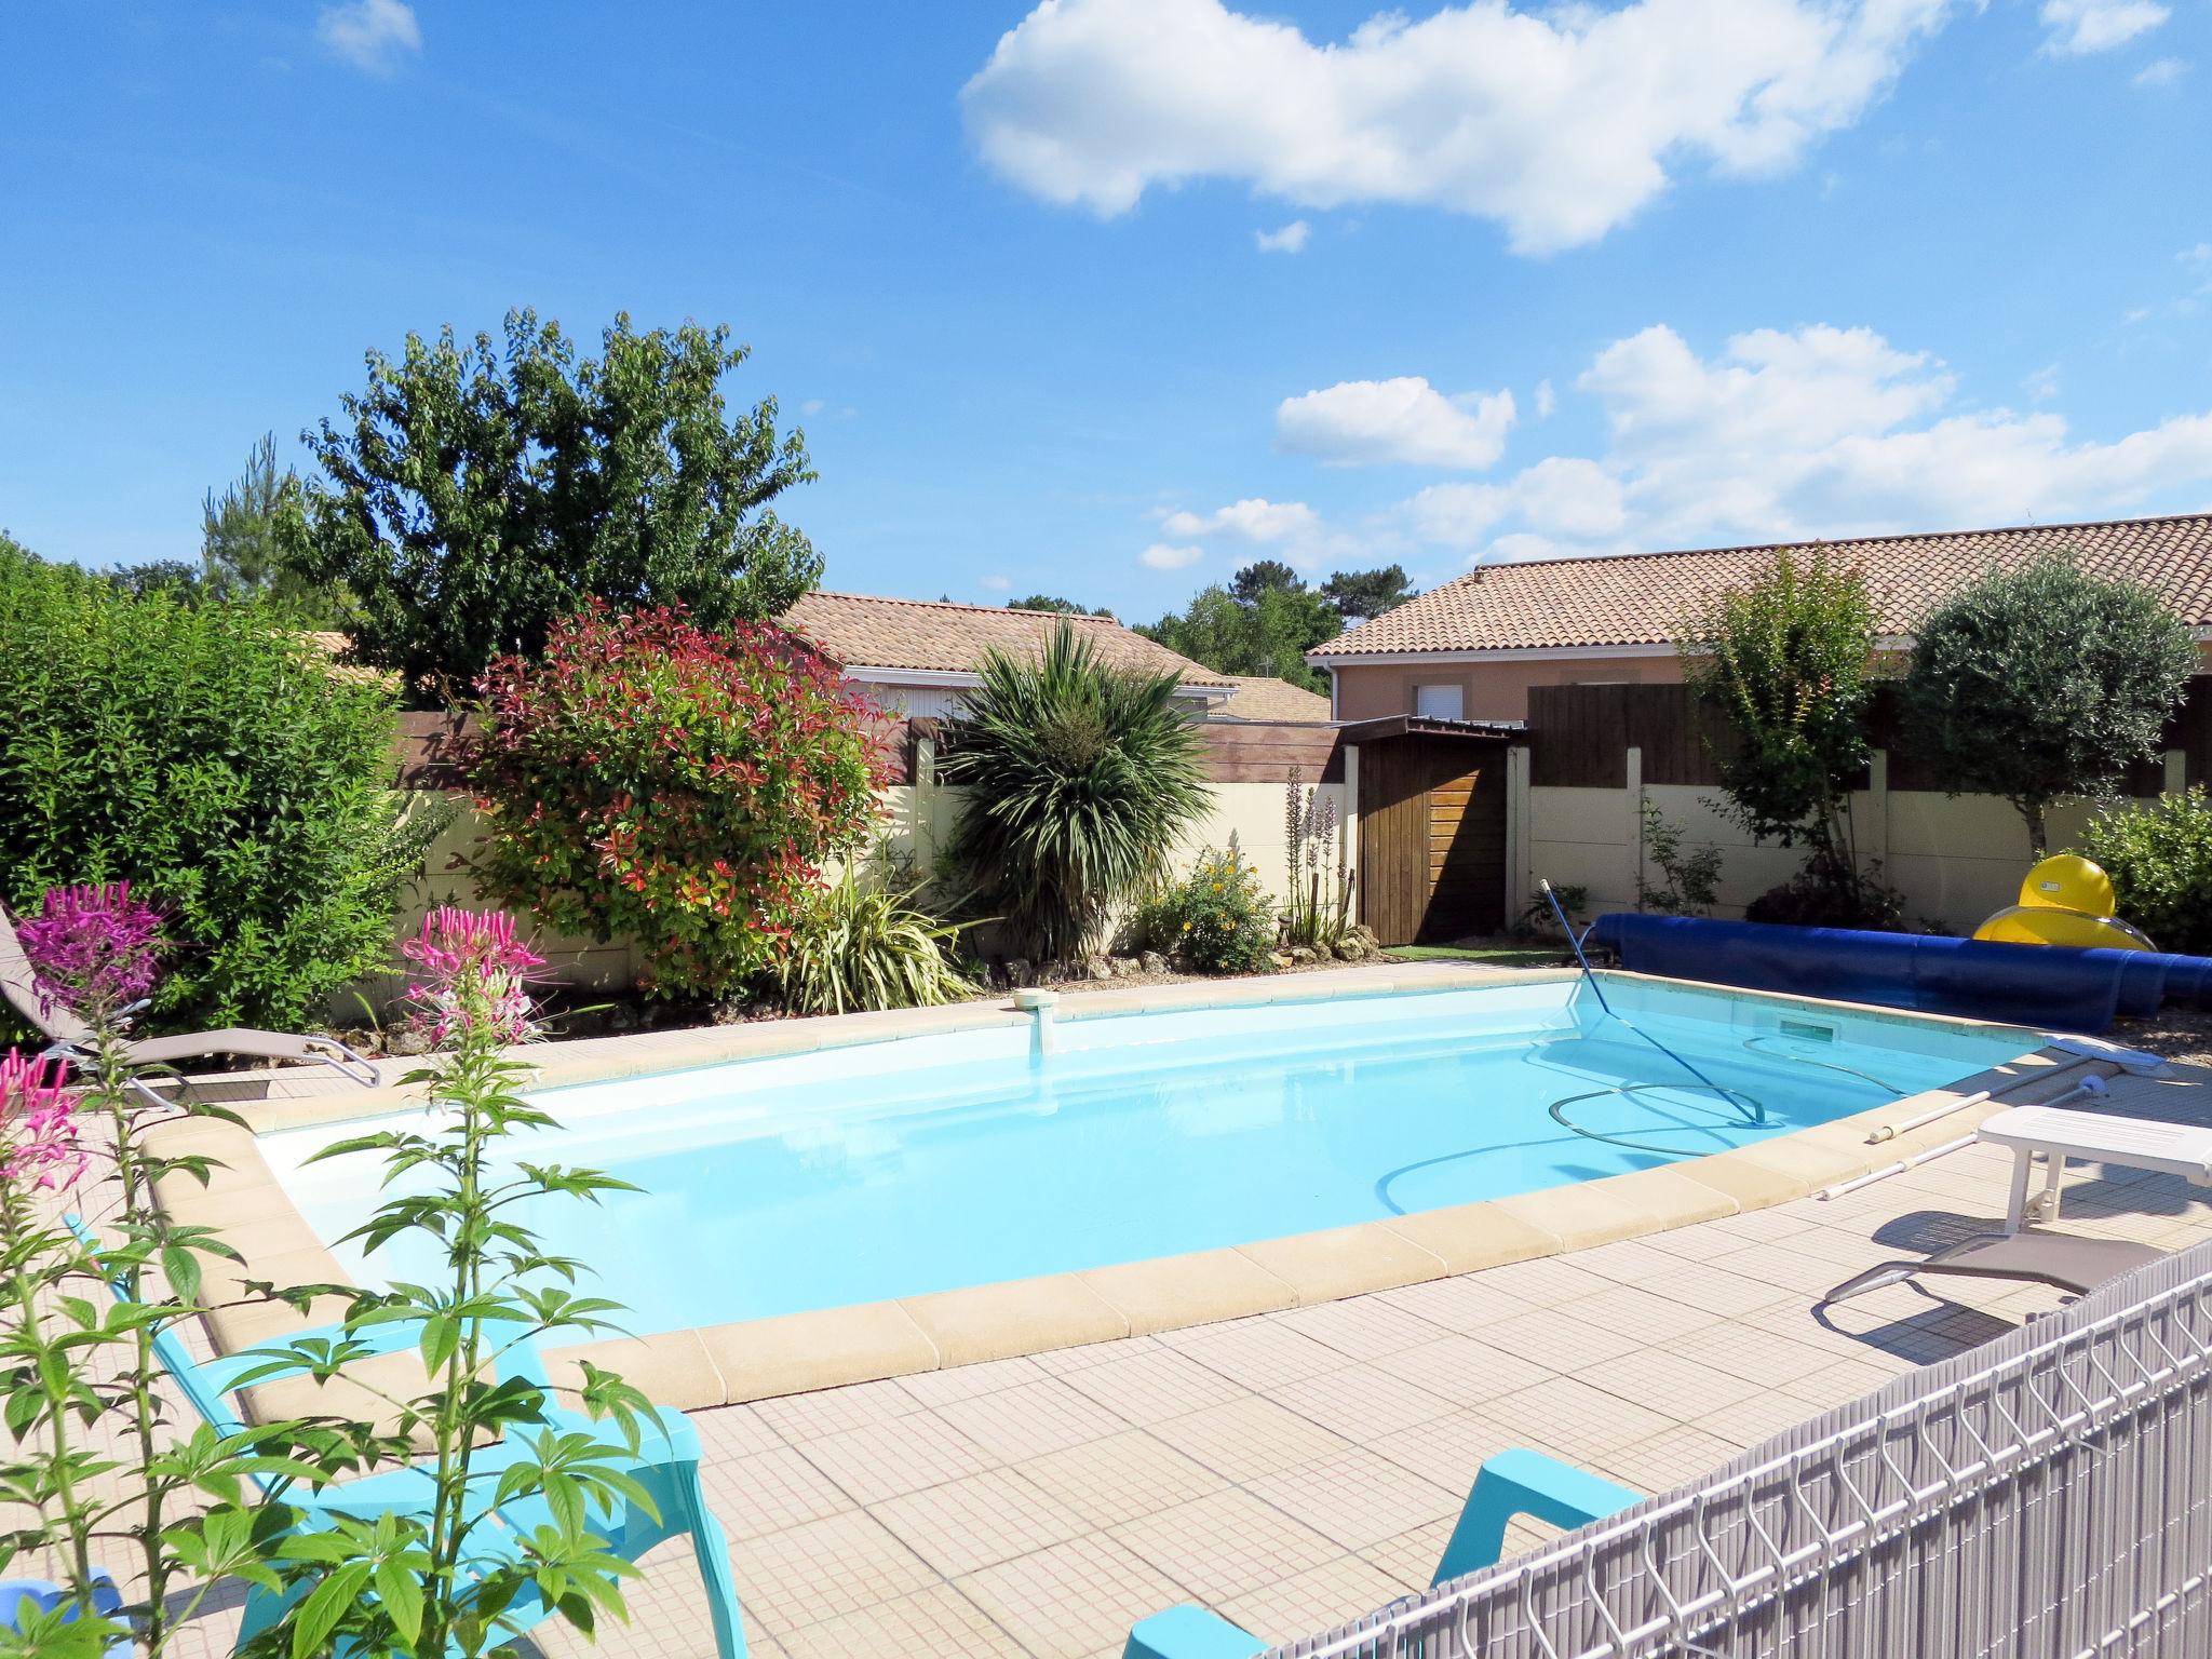
<path fill-rule="evenodd" d="M 2199 487 L 2212 411 L 2110 442 L 2053 409 L 1964 409 L 1951 372 L 1871 330 L 1739 334 L 1705 358 L 1670 327 L 1597 354 L 1601 456 L 1551 456 L 1398 509 L 1433 546 L 1489 557 L 1878 535 L 2141 511 Z M 2055 396 L 2055 374 L 2028 376 Z"/>

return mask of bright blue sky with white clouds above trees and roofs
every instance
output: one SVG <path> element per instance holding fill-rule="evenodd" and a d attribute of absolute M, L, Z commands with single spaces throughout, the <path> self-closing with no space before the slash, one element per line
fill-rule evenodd
<path fill-rule="evenodd" d="M 2190 511 L 2208 179 L 2212 0 L 11 7 L 0 526 L 520 303 L 730 323 L 876 593 Z"/>

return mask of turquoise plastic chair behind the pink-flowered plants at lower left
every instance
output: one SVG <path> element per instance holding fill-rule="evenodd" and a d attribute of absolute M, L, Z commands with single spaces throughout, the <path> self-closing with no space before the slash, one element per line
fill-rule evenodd
<path fill-rule="evenodd" d="M 80 1239 L 93 1243 L 93 1234 L 86 1230 L 84 1221 L 69 1217 L 69 1225 Z M 124 1287 L 108 1285 L 115 1298 L 124 1298 Z M 338 1325 L 321 1325 L 316 1329 L 294 1332 L 285 1336 L 285 1343 L 296 1340 L 338 1340 L 343 1329 Z M 376 1325 L 356 1334 L 356 1340 L 372 1347 L 378 1354 L 389 1354 L 398 1349 L 409 1349 L 418 1340 L 418 1329 L 411 1321 L 394 1321 L 392 1325 Z M 254 1385 L 276 1380 L 290 1371 L 261 1374 L 268 1367 L 265 1358 L 250 1358 L 243 1354 L 195 1360 L 184 1347 L 173 1329 L 164 1329 L 155 1336 L 155 1356 L 161 1367 L 175 1378 L 177 1387 L 192 1402 L 192 1409 L 217 1431 L 217 1433 L 241 1433 L 246 1420 L 239 1416 L 239 1402 L 232 1398 L 232 1378 L 246 1371 L 257 1371 Z M 292 1371 L 305 1371 L 307 1365 L 292 1367 Z M 538 1383 L 540 1387 L 551 1387 L 544 1374 L 542 1358 L 529 1347 L 515 1347 L 500 1360 L 500 1376 L 524 1378 Z M 745 1626 L 737 1610 L 737 1582 L 730 1575 L 730 1544 L 723 1537 L 721 1522 L 706 1506 L 706 1493 L 699 1486 L 699 1431 L 692 1427 L 690 1418 L 681 1411 L 659 1411 L 659 1427 L 646 1422 L 641 1425 L 641 1442 L 635 1453 L 630 1453 L 619 1440 L 608 1440 L 608 1425 L 595 1422 L 593 1418 L 568 1411 L 560 1405 L 546 1407 L 546 1425 L 555 1433 L 586 1433 L 599 1440 L 613 1451 L 613 1462 L 626 1475 L 630 1475 L 646 1493 L 653 1498 L 657 1515 L 639 1509 L 637 1504 L 622 1504 L 619 1513 L 593 1513 L 591 1531 L 606 1540 L 611 1555 L 619 1555 L 626 1562 L 635 1562 L 655 1544 L 670 1537 L 690 1535 L 692 1555 L 699 1562 L 699 1577 L 706 1584 L 708 1610 L 714 1619 L 714 1648 L 721 1659 L 745 1659 Z M 544 1429 L 531 1429 L 529 1433 L 542 1433 Z M 478 1482 L 489 1500 L 491 1491 L 498 1486 L 498 1471 L 504 1462 L 526 1460 L 535 1462 L 535 1455 L 526 1442 L 509 1438 L 498 1447 L 484 1447 L 476 1453 L 471 1467 L 478 1473 L 489 1475 Z M 332 1524 L 336 1515 L 349 1515 L 356 1520 L 374 1520 L 376 1515 L 429 1515 L 436 1502 L 436 1482 L 431 1471 L 425 1467 L 411 1469 L 389 1469 L 374 1475 L 361 1475 L 356 1480 L 341 1480 L 323 1486 L 321 1491 L 288 1489 L 283 1502 L 301 1511 L 296 1531 L 323 1531 Z M 487 1502 L 482 1513 L 473 1517 L 478 1524 L 471 1526 L 469 1548 L 471 1559 L 465 1564 L 471 1575 L 482 1577 L 484 1571 L 513 1562 L 520 1555 L 515 1540 L 529 1535 L 540 1526 L 553 1522 L 553 1513 L 542 1498 L 509 1500 L 502 1504 Z M 285 1597 L 270 1595 L 268 1590 L 250 1590 L 246 1597 L 246 1617 L 239 1630 L 239 1641 L 265 1630 L 285 1610 Z M 551 1617 L 553 1610 L 546 1608 L 535 1590 L 524 1593 L 507 1608 L 507 1619 L 513 1628 L 529 1630 Z M 458 1652 L 458 1648 L 451 1648 Z"/>

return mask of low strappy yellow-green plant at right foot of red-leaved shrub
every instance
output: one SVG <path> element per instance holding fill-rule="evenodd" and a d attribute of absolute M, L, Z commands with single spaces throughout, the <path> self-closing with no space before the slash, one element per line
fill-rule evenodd
<path fill-rule="evenodd" d="M 863 880 L 854 865 L 816 896 L 779 971 L 792 1013 L 933 1009 L 973 991 L 947 953 L 960 922 L 938 922 L 918 887 Z"/>

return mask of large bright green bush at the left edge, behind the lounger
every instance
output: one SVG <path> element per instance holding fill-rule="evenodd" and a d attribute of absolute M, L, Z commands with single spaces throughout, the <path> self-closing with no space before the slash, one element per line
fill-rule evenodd
<path fill-rule="evenodd" d="M 157 902 L 146 1029 L 319 1024 L 392 958 L 436 830 L 389 790 L 394 708 L 263 606 L 135 597 L 0 538 L 0 898 Z"/>

